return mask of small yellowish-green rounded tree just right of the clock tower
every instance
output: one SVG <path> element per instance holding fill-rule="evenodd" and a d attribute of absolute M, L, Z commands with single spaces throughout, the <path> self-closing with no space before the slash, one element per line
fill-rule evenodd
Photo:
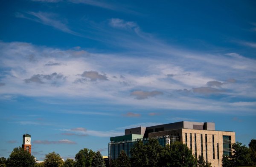
<path fill-rule="evenodd" d="M 62 167 L 64 161 L 61 156 L 54 151 L 45 155 L 44 166 L 45 167 Z"/>

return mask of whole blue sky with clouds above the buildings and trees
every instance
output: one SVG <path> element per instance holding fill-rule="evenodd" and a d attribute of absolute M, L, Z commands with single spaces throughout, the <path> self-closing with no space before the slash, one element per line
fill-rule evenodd
<path fill-rule="evenodd" d="M 256 138 L 256 2 L 2 0 L 0 156 L 108 155 L 124 129 L 215 122 Z"/>

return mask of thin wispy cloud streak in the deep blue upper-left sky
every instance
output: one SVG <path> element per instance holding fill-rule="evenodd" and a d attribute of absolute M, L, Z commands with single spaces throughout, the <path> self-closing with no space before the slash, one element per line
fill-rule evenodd
<path fill-rule="evenodd" d="M 57 14 L 53 14 L 53 13 L 46 13 L 46 12 L 33 12 L 33 11 L 29 11 L 27 13 L 17 13 L 16 17 L 20 17 L 20 18 L 24 18 L 24 19 L 28 19 L 28 20 L 32 20 L 44 25 L 49 25 L 51 27 L 54 27 L 60 31 L 69 33 L 69 34 L 73 34 L 76 36 L 81 36 L 81 34 L 72 31 L 65 23 L 61 22 L 60 20 L 58 20 L 58 15 Z"/>

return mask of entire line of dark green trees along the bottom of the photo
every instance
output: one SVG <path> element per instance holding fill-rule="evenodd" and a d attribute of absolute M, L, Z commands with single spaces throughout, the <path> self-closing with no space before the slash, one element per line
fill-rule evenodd
<path fill-rule="evenodd" d="M 131 149 L 131 158 L 122 150 L 117 159 L 111 160 L 111 167 L 212 167 L 199 155 L 195 158 L 186 144 L 175 142 L 162 147 L 156 139 L 147 144 L 139 141 Z M 222 156 L 222 167 L 256 165 L 256 139 L 249 147 L 239 142 L 232 144 L 232 155 Z M 101 153 L 87 148 L 81 149 L 75 159 L 63 161 L 58 153 L 45 155 L 43 163 L 35 163 L 35 157 L 21 147 L 13 149 L 8 159 L 0 158 L 0 167 L 105 167 Z"/>

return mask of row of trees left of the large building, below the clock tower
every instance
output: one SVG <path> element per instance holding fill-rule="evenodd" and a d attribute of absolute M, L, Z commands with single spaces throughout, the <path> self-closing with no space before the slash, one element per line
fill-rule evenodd
<path fill-rule="evenodd" d="M 105 167 L 102 154 L 87 148 L 81 149 L 74 159 L 63 161 L 60 154 L 52 152 L 45 155 L 44 162 L 36 163 L 24 148 L 15 147 L 9 158 L 0 158 L 0 167 Z"/>

